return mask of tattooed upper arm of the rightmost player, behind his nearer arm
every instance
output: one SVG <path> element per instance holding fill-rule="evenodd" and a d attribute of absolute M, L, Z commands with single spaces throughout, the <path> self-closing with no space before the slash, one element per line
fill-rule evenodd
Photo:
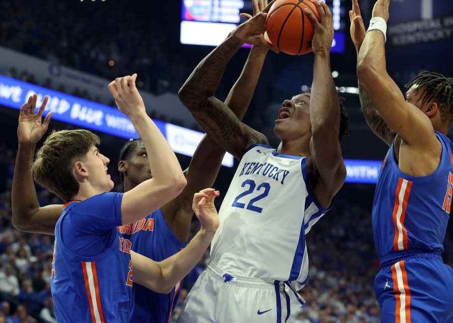
<path fill-rule="evenodd" d="M 390 146 L 393 139 L 395 139 L 396 132 L 389 128 L 387 123 L 379 114 L 378 110 L 374 108 L 371 99 L 368 97 L 365 90 L 363 90 L 363 88 L 360 86 L 360 82 L 358 82 L 358 89 L 360 105 L 362 107 L 361 110 L 363 112 L 363 115 L 365 116 L 366 123 L 376 136 L 381 138 Z"/>

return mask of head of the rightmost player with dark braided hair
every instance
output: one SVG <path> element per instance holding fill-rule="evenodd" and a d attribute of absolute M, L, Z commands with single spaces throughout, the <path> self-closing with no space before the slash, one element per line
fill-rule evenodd
<path fill-rule="evenodd" d="M 433 72 L 421 72 L 405 86 L 406 100 L 424 111 L 437 107 L 441 124 L 453 122 L 453 78 Z M 437 129 L 436 129 L 437 130 Z"/>

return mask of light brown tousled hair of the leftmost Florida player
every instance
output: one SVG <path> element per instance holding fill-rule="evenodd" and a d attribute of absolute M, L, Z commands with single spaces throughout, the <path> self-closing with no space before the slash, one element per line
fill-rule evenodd
<path fill-rule="evenodd" d="M 72 164 L 84 159 L 90 147 L 100 142 L 88 130 L 53 130 L 36 153 L 30 169 L 33 179 L 64 202 L 70 201 L 79 192 L 79 183 L 71 174 Z"/>

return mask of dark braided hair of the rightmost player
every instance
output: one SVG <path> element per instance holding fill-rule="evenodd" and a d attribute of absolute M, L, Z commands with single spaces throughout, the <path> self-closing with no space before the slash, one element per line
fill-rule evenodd
<path fill-rule="evenodd" d="M 424 90 L 422 104 L 430 101 L 437 103 L 442 123 L 451 124 L 453 122 L 453 78 L 434 72 L 421 72 L 405 87 L 411 88 L 414 85 L 418 86 L 418 90 Z"/>

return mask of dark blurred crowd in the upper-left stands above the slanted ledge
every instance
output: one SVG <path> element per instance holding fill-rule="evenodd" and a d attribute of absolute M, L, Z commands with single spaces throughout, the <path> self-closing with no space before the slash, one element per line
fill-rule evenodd
<path fill-rule="evenodd" d="M 127 2 L 43 6 L 38 0 L 3 1 L 0 44 L 107 79 L 140 71 L 147 91 L 177 92 L 195 65 L 170 46 L 165 24 L 157 21 L 165 17 L 153 19 L 155 24 L 149 24 L 149 12 Z"/>

